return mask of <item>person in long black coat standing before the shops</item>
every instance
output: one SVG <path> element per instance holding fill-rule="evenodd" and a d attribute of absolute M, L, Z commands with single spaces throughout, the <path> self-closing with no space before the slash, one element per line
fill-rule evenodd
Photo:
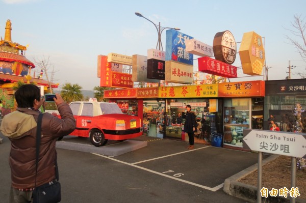
<path fill-rule="evenodd" d="M 195 112 L 191 111 L 191 106 L 188 104 L 186 106 L 186 121 L 184 124 L 184 132 L 187 132 L 189 138 L 189 146 L 188 150 L 192 150 L 194 148 L 194 132 L 196 131 L 196 122 L 195 122 Z"/>

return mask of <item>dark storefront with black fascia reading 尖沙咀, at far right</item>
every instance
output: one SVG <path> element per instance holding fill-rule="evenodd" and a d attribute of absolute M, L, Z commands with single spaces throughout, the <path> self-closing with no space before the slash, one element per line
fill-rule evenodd
<path fill-rule="evenodd" d="M 306 79 L 266 81 L 264 130 L 269 130 L 268 119 L 273 115 L 281 131 L 292 132 L 296 124 L 295 107 L 299 103 L 306 109 Z M 306 112 L 301 113 L 302 131 L 305 133 Z"/>

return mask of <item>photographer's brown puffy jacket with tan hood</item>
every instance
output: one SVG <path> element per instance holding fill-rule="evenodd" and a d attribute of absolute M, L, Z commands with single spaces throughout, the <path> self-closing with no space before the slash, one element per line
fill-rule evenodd
<path fill-rule="evenodd" d="M 58 137 L 68 135 L 75 128 L 75 120 L 68 104 L 58 105 L 61 119 L 44 113 L 36 186 L 55 179 L 55 149 Z M 29 189 L 35 187 L 36 127 L 38 111 L 17 108 L 3 118 L 0 131 L 11 140 L 9 163 L 12 187 Z"/>

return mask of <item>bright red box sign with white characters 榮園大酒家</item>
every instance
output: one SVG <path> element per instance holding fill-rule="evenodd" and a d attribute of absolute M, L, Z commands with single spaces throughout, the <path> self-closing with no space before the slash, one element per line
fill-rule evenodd
<path fill-rule="evenodd" d="M 231 66 L 210 57 L 198 58 L 199 71 L 222 77 L 237 77 L 237 67 Z"/>

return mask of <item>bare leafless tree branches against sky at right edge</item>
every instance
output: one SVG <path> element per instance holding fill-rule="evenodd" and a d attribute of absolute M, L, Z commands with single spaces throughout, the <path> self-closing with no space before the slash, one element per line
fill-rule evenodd
<path fill-rule="evenodd" d="M 293 30 L 286 29 L 290 31 L 297 38 L 291 38 L 286 35 L 286 38 L 293 44 L 297 50 L 297 52 L 302 57 L 302 60 L 306 63 L 306 21 L 305 18 L 301 19 L 301 15 L 294 15 L 294 21 L 291 22 Z M 297 73 L 302 78 L 306 78 L 305 73 Z"/>

